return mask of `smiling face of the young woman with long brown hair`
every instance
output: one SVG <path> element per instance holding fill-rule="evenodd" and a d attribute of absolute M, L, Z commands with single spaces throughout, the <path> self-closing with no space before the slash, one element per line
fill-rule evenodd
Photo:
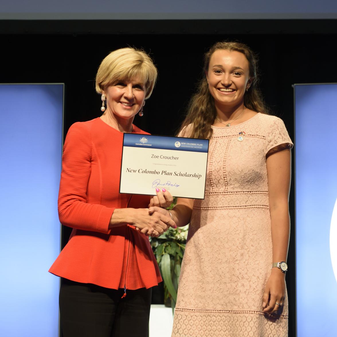
<path fill-rule="evenodd" d="M 249 65 L 244 54 L 216 50 L 206 72 L 208 88 L 217 109 L 243 104 L 243 96 L 251 83 Z"/>

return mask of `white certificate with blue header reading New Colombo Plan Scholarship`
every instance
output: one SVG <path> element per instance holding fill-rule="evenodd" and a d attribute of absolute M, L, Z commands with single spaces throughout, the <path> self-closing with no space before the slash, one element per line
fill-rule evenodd
<path fill-rule="evenodd" d="M 124 133 L 120 193 L 204 199 L 208 139 Z"/>

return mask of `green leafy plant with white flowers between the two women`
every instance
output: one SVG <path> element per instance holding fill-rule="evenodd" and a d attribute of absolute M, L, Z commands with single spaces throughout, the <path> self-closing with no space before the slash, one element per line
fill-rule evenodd
<path fill-rule="evenodd" d="M 174 203 L 168 209 L 172 209 Z M 164 304 L 174 310 L 181 262 L 185 251 L 188 225 L 174 229 L 172 227 L 158 238 L 151 238 L 152 250 L 156 256 L 164 281 Z"/>

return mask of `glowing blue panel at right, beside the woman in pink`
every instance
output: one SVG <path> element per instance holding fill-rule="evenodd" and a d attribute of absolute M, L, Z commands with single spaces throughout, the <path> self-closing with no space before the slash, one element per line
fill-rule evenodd
<path fill-rule="evenodd" d="M 337 245 L 331 231 L 337 226 L 331 221 L 337 198 L 336 106 L 337 84 L 295 85 L 298 337 L 337 335 L 337 259 L 331 255 Z"/>

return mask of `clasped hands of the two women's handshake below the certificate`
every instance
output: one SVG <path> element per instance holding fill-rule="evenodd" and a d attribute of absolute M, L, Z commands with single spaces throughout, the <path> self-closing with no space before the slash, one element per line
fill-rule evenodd
<path fill-rule="evenodd" d="M 170 213 L 166 210 L 163 211 L 150 213 L 148 208 L 135 208 L 132 212 L 133 221 L 130 225 L 135 226 L 136 230 L 141 231 L 141 233 L 152 237 L 158 237 L 163 234 L 170 226 L 177 228 L 176 223 L 171 219 Z"/>

